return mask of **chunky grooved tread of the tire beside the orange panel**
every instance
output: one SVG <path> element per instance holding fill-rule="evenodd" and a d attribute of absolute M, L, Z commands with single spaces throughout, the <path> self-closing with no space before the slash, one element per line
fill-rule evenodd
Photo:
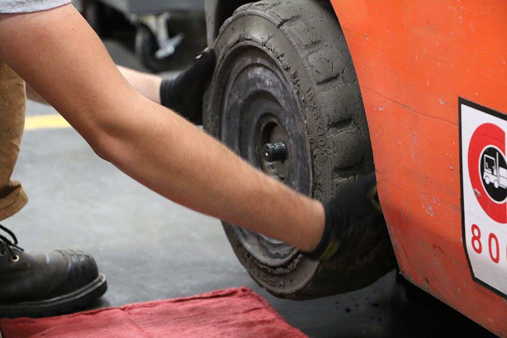
<path fill-rule="evenodd" d="M 221 31 L 241 15 L 259 15 L 270 20 L 301 56 L 316 89 L 315 101 L 325 116 L 332 193 L 350 184 L 358 175 L 373 170 L 363 100 L 343 32 L 329 2 L 263 0 L 245 4 L 226 20 Z M 291 69 L 283 55 L 277 55 L 277 58 L 297 87 L 301 69 Z M 331 195 L 321 198 L 325 201 Z M 394 267 L 395 259 L 385 224 L 371 226 L 358 234 L 354 245 L 350 245 L 337 260 L 321 263 L 303 289 L 292 294 L 274 294 L 308 299 L 348 292 L 373 283 Z"/>

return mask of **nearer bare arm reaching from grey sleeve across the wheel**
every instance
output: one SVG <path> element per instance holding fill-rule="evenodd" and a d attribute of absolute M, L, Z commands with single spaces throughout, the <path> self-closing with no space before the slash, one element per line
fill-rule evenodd
<path fill-rule="evenodd" d="M 319 242 L 320 202 L 135 91 L 72 6 L 0 16 L 0 58 L 99 156 L 150 189 L 305 251 Z"/>

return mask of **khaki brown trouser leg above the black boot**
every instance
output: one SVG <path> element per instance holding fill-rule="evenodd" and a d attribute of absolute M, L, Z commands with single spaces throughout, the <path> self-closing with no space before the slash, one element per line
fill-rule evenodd
<path fill-rule="evenodd" d="M 25 122 L 24 81 L 0 60 L 0 220 L 28 202 L 21 183 L 11 181 Z"/>

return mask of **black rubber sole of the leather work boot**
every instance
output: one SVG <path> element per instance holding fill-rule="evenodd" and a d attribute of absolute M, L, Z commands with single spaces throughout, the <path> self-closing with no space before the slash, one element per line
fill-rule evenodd
<path fill-rule="evenodd" d="M 100 298 L 107 290 L 107 281 L 99 274 L 90 284 L 67 294 L 37 302 L 0 304 L 0 317 L 49 317 L 81 309 Z"/>

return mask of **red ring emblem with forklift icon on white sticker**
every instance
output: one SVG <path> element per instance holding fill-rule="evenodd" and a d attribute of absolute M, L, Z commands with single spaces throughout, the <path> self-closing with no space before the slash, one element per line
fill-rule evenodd
<path fill-rule="evenodd" d="M 493 220 L 507 223 L 505 132 L 492 123 L 477 127 L 468 145 L 468 174 L 477 201 Z"/>

